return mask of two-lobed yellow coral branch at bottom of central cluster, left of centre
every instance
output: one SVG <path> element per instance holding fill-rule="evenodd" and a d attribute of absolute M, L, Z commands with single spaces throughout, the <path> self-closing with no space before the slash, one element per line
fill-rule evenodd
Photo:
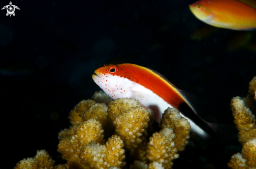
<path fill-rule="evenodd" d="M 119 136 L 113 135 L 106 145 L 94 141 L 87 144 L 80 154 L 81 163 L 90 165 L 91 168 L 108 168 L 110 166 L 125 166 L 124 143 Z"/>

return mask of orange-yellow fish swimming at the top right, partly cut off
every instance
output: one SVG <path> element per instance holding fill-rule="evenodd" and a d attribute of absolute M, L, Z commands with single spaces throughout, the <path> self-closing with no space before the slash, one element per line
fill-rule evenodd
<path fill-rule="evenodd" d="M 189 6 L 195 17 L 206 24 L 233 30 L 256 29 L 256 9 L 243 2 L 201 0 Z"/>

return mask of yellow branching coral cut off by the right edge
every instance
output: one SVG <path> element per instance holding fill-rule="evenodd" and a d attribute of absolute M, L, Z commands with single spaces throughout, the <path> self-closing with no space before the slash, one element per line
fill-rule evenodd
<path fill-rule="evenodd" d="M 242 152 L 232 155 L 228 163 L 230 168 L 256 168 L 256 118 L 250 108 L 253 109 L 255 101 L 252 99 L 256 89 L 256 77 L 249 83 L 249 94 L 246 98 L 233 97 L 231 110 L 234 122 L 238 129 L 238 141 L 243 145 Z M 249 107 L 250 108 L 249 108 Z"/>

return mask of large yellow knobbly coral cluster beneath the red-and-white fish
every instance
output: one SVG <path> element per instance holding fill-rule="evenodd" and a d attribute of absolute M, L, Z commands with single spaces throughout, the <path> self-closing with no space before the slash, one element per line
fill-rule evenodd
<path fill-rule="evenodd" d="M 179 157 L 177 152 L 184 150 L 191 127 L 177 109 L 165 111 L 161 130 L 147 140 L 148 131 L 152 132 L 151 109 L 132 98 L 109 103 L 111 99 L 102 92 L 96 93 L 93 99 L 77 104 L 69 116 L 72 126 L 59 132 L 58 151 L 67 163 L 54 166 L 47 154 L 48 161 L 43 162 L 49 167 L 124 168 L 125 159 L 129 158 L 129 163 L 139 160 L 130 165 L 131 168 L 171 168 L 173 160 Z M 103 131 L 109 137 L 107 142 Z M 36 158 L 27 161 L 34 164 Z M 24 166 L 27 161 L 20 161 L 16 167 Z"/>

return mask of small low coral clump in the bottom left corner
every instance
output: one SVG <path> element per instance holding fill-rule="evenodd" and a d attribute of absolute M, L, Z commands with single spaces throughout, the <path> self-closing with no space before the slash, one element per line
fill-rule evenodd
<path fill-rule="evenodd" d="M 54 166 L 54 160 L 52 160 L 51 156 L 48 154 L 46 150 L 38 150 L 35 157 L 27 158 L 21 160 L 14 167 L 15 169 L 36 169 L 36 168 L 45 168 L 45 169 L 53 169 L 53 168 L 66 168 L 65 165 Z"/>

